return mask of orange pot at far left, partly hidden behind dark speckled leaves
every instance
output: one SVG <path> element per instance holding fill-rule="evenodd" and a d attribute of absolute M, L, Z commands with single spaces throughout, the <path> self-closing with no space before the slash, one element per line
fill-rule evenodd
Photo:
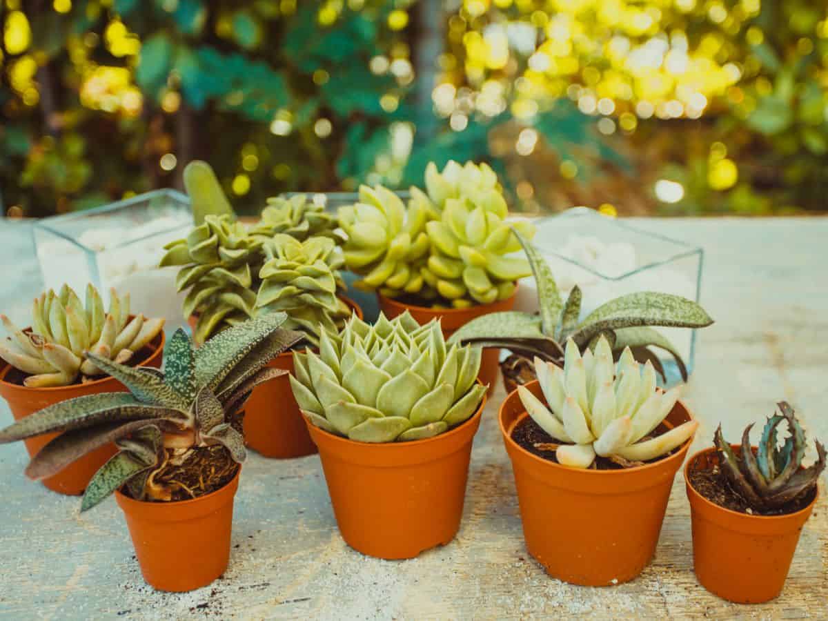
<path fill-rule="evenodd" d="M 152 343 L 149 344 L 149 347 L 153 350 L 152 354 L 140 366 L 158 368 L 161 366 L 161 352 L 164 350 L 164 333 L 161 332 L 160 335 L 156 336 L 152 340 Z M 99 392 L 126 392 L 127 390 L 117 379 L 109 377 L 96 379 L 94 382 L 85 384 L 75 384 L 73 386 L 27 388 L 26 386 L 19 386 L 15 383 L 5 381 L 7 373 L 11 370 L 12 367 L 9 364 L 0 369 L 0 397 L 4 398 L 8 403 L 8 408 L 12 411 L 12 416 L 14 416 L 15 421 L 19 421 L 34 412 L 38 412 L 44 407 L 49 407 L 55 403 L 66 401 L 67 399 L 85 397 L 86 395 L 98 394 Z M 37 455 L 45 445 L 59 435 L 51 433 L 24 440 L 29 456 L 34 457 Z M 66 466 L 58 474 L 48 479 L 43 479 L 41 483 L 53 492 L 78 496 L 84 493 L 86 485 L 89 484 L 89 479 L 92 479 L 93 475 L 98 472 L 98 469 L 113 455 L 115 455 L 115 445 L 110 443 L 101 446 L 99 449 L 93 450 L 91 453 L 84 455 L 79 460 Z"/>

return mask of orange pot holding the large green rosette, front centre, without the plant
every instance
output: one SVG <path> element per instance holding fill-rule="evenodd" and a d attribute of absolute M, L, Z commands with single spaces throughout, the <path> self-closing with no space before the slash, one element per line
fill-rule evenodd
<path fill-rule="evenodd" d="M 485 402 L 455 429 L 412 442 L 355 442 L 306 421 L 345 543 L 368 556 L 404 559 L 455 538 Z"/>

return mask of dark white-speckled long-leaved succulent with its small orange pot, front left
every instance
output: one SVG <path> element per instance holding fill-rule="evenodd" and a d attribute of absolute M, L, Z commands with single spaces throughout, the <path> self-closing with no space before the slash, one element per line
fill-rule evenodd
<path fill-rule="evenodd" d="M 199 349 L 176 330 L 163 372 L 89 352 L 129 392 L 55 403 L 0 431 L 0 443 L 60 432 L 26 468 L 41 479 L 114 441 L 118 452 L 89 481 L 81 511 L 115 493 L 148 584 L 171 591 L 208 585 L 229 558 L 245 456 L 238 413 L 253 388 L 284 373 L 267 362 L 301 338 L 281 330 L 285 320 L 284 313 L 263 315 Z"/>

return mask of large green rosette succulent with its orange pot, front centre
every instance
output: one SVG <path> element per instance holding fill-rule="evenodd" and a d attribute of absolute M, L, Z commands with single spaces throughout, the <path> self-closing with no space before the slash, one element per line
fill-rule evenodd
<path fill-rule="evenodd" d="M 480 350 L 445 347 L 408 313 L 323 332 L 290 382 L 319 447 L 339 532 L 370 556 L 412 558 L 460 527 L 486 388 Z"/>

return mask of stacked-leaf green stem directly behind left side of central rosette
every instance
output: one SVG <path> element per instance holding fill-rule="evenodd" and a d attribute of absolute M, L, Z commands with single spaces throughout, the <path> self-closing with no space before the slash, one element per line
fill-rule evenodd
<path fill-rule="evenodd" d="M 320 331 L 337 332 L 351 314 L 337 297 L 345 283 L 341 249 L 331 238 L 311 237 L 299 242 L 279 234 L 265 243 L 267 262 L 259 272 L 256 312 L 283 310 L 286 329 L 305 332 L 318 345 Z"/>

